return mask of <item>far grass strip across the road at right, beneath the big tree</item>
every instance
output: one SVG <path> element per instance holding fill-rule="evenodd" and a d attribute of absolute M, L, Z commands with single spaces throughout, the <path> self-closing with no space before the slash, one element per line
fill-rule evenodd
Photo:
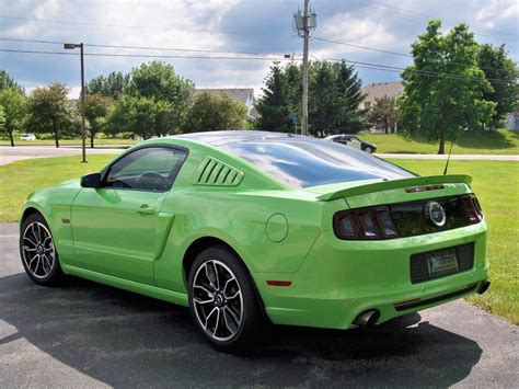
<path fill-rule="evenodd" d="M 436 141 L 406 139 L 399 134 L 359 134 L 359 138 L 377 145 L 377 152 L 437 153 Z M 449 152 L 450 142 L 446 145 Z M 519 155 L 519 130 L 468 131 L 452 148 L 454 155 Z"/>

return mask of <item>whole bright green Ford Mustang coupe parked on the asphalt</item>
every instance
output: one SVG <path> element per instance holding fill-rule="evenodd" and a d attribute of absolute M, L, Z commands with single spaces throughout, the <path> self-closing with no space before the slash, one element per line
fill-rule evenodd
<path fill-rule="evenodd" d="M 20 251 L 37 284 L 70 274 L 188 306 L 237 351 L 268 321 L 349 329 L 485 291 L 470 181 L 291 134 L 151 139 L 31 194 Z"/>

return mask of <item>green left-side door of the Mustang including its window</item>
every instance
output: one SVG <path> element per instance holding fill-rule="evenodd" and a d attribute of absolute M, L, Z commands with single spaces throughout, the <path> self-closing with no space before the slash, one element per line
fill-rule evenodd
<path fill-rule="evenodd" d="M 161 215 L 187 151 L 152 146 L 108 167 L 99 188 L 82 188 L 72 203 L 80 267 L 153 284 L 153 262 L 174 215 Z"/>

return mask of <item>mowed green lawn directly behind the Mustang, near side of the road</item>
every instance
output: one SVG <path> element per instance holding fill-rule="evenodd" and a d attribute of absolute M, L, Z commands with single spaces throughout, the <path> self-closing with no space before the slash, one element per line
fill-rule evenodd
<path fill-rule="evenodd" d="M 101 170 L 114 156 L 90 156 L 88 164 L 77 157 L 18 161 L 0 165 L 0 221 L 16 221 L 21 206 L 34 190 Z M 440 174 L 443 161 L 392 160 L 419 174 Z M 470 301 L 519 323 L 519 163 L 512 161 L 452 160 L 450 173 L 473 176 L 488 231 L 491 289 Z"/>

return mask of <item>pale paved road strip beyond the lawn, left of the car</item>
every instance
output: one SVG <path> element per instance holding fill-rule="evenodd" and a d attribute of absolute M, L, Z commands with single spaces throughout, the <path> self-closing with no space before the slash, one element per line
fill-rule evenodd
<path fill-rule="evenodd" d="M 88 155 L 117 155 L 122 149 L 86 149 Z M 9 147 L 0 146 L 0 165 L 8 164 L 14 161 L 32 158 L 49 158 L 49 157 L 65 157 L 65 156 L 81 156 L 81 148 L 77 146 L 62 146 L 59 149 L 50 146 L 19 146 Z"/>

